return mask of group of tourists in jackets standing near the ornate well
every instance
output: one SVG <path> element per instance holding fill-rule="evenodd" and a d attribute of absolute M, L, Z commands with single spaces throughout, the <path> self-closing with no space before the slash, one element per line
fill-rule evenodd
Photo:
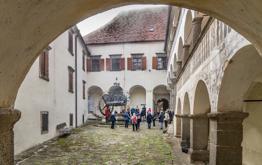
<path fill-rule="evenodd" d="M 131 112 L 131 114 L 130 114 Z M 110 116 L 110 119 L 112 121 L 111 123 L 111 129 L 115 129 L 115 121 L 116 121 L 116 116 L 114 115 L 115 113 L 113 112 L 112 115 Z M 117 114 L 117 112 L 116 112 Z M 109 107 L 105 110 L 105 116 L 106 116 L 106 123 L 109 123 Z M 167 128 L 167 123 L 170 123 L 173 121 L 174 117 L 174 112 L 173 110 L 167 109 L 165 112 L 163 112 L 163 108 L 161 108 L 160 115 L 158 116 L 158 121 L 160 125 L 160 130 L 163 129 L 163 123 L 165 123 L 165 128 Z M 146 107 L 144 106 L 141 110 L 141 113 L 139 111 L 138 106 L 136 108 L 132 107 L 132 109 L 128 109 L 125 114 L 125 128 L 128 128 L 128 123 L 132 123 L 133 126 L 133 131 L 140 130 L 140 122 L 144 122 L 146 120 L 148 129 L 151 129 L 151 123 L 153 122 L 153 126 L 155 126 L 155 121 L 157 119 L 157 114 L 156 111 L 153 111 L 153 114 L 151 114 L 151 108 L 146 111 Z"/>

